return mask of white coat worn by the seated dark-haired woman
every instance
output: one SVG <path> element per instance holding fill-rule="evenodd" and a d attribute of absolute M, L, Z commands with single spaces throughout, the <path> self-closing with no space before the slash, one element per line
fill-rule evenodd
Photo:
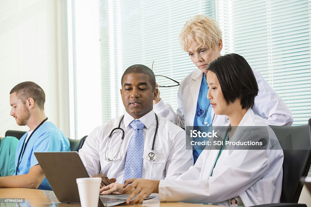
<path fill-rule="evenodd" d="M 239 126 L 267 125 L 248 110 Z M 270 127 L 268 132 L 270 139 L 277 139 Z M 176 180 L 160 181 L 160 201 L 229 206 L 229 200 L 239 196 L 245 206 L 278 203 L 282 189 L 283 151 L 280 146 L 279 150 L 273 149 L 224 150 L 212 176 L 219 150 L 203 150 L 196 164 Z"/>

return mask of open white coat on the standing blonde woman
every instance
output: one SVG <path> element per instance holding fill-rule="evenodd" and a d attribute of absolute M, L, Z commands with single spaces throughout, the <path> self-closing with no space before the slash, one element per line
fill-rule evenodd
<path fill-rule="evenodd" d="M 286 106 L 281 97 L 271 88 L 271 86 L 263 79 L 258 70 L 253 70 L 258 84 L 258 95 L 255 97 L 255 105 L 253 111 L 265 119 L 269 125 L 291 126 L 293 123 L 292 113 Z M 180 83 L 177 101 L 177 113 L 169 104 L 161 99 L 159 103 L 154 105 L 154 110 L 160 116 L 165 117 L 172 123 L 185 128 L 185 126 L 193 126 L 194 116 L 197 109 L 197 99 L 202 82 L 202 71 L 193 70 Z M 212 109 L 211 117 L 214 116 Z M 225 115 L 215 115 L 213 126 L 222 126 L 228 123 L 229 119 Z"/>

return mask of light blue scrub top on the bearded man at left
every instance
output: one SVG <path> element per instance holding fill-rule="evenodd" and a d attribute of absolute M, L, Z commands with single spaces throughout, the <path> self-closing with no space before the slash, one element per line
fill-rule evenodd
<path fill-rule="evenodd" d="M 28 133 L 25 133 L 17 144 L 15 154 L 15 169 L 17 167 L 18 157 L 21 148 Z M 70 151 L 70 144 L 64 133 L 52 122 L 44 122 L 30 137 L 25 149 L 24 155 L 20 160 L 17 175 L 27 174 L 31 167 L 38 164 L 34 152 L 59 152 Z M 16 174 L 16 170 L 13 175 Z M 44 177 L 40 186 L 40 190 L 52 190 L 48 180 Z"/>

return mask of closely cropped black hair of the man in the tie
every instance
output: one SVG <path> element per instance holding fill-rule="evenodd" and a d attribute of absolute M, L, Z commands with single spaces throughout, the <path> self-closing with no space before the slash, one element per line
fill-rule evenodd
<path fill-rule="evenodd" d="M 156 76 L 152 72 L 150 68 L 148 68 L 146 65 L 131 65 L 129 66 L 123 73 L 121 78 L 121 86 L 123 87 L 123 79 L 126 75 L 132 74 L 132 73 L 142 73 L 149 76 L 149 81 L 151 83 L 151 87 L 154 90 L 156 88 Z"/>

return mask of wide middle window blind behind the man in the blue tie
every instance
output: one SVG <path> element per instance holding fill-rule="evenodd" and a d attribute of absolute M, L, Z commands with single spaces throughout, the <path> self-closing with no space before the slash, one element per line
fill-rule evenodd
<path fill-rule="evenodd" d="M 102 102 L 106 99 L 111 105 L 102 105 L 103 123 L 124 113 L 120 96 L 121 76 L 130 65 L 143 64 L 151 68 L 155 61 L 153 71 L 156 75 L 165 75 L 179 82 L 194 70 L 195 65 L 180 47 L 179 33 L 192 16 L 208 12 L 215 16 L 214 1 L 116 0 L 104 4 L 106 9 L 100 16 L 109 23 L 103 23 L 101 34 L 109 40 L 104 40 L 102 48 L 106 51 L 101 66 Z M 157 82 L 160 85 L 174 84 L 158 77 Z M 110 96 L 106 90 L 111 91 Z M 177 91 L 178 87 L 160 88 L 160 97 L 175 110 Z"/>

